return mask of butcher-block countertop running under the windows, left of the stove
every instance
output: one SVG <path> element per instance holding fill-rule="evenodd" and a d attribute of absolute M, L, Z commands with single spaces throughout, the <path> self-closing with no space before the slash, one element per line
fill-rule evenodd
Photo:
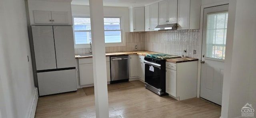
<path fill-rule="evenodd" d="M 113 52 L 113 53 L 106 53 L 106 56 L 119 56 L 119 55 L 132 55 L 132 54 L 146 56 L 147 54 L 154 54 L 154 53 L 158 53 L 158 52 L 152 52 L 152 51 Z M 88 57 L 92 57 L 92 55 L 82 56 L 82 57 L 75 55 L 75 58 L 88 58 Z"/>

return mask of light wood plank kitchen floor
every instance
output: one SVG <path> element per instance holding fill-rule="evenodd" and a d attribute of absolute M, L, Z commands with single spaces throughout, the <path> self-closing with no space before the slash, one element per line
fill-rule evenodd
<path fill-rule="evenodd" d="M 158 96 L 140 81 L 108 85 L 108 102 L 111 118 L 219 118 L 221 112 L 200 98 Z M 40 97 L 36 118 L 96 118 L 93 87 Z"/>

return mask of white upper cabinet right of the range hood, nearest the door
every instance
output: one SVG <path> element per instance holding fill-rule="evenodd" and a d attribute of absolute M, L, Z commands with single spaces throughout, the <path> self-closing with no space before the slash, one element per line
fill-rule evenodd
<path fill-rule="evenodd" d="M 178 30 L 199 29 L 202 0 L 178 0 Z"/>

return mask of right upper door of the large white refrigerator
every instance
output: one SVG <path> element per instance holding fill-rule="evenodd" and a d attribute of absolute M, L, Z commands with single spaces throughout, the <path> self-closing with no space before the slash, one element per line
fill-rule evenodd
<path fill-rule="evenodd" d="M 72 26 L 53 26 L 57 68 L 75 67 Z"/>

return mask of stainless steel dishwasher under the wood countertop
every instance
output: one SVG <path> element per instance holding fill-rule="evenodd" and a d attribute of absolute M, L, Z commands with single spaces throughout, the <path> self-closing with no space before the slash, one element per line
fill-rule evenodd
<path fill-rule="evenodd" d="M 124 82 L 129 80 L 129 56 L 110 57 L 110 71 L 112 83 Z"/>

